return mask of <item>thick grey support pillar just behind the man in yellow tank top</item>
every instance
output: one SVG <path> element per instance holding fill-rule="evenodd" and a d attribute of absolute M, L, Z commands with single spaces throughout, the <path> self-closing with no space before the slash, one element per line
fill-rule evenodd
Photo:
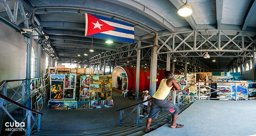
<path fill-rule="evenodd" d="M 158 40 L 155 37 L 155 41 Z M 150 68 L 150 95 L 155 94 L 156 91 L 156 70 L 157 70 L 157 46 L 154 45 L 151 50 L 151 68 Z"/>

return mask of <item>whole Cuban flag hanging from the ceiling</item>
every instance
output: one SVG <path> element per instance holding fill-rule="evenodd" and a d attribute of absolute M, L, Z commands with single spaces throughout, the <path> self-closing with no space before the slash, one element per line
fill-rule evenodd
<path fill-rule="evenodd" d="M 116 19 L 85 13 L 85 36 L 134 43 L 134 26 Z"/>

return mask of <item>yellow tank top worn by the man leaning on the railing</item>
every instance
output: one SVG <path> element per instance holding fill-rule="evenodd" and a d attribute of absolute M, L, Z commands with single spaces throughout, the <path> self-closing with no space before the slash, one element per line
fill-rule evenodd
<path fill-rule="evenodd" d="M 168 79 L 162 79 L 160 82 L 160 85 L 158 87 L 158 90 L 155 92 L 155 94 L 152 96 L 155 99 L 164 100 L 170 93 L 172 86 L 168 87 L 166 85 L 166 81 Z"/>

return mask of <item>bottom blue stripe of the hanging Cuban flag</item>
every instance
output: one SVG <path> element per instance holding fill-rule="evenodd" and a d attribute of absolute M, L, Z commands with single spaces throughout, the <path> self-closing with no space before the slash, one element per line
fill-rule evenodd
<path fill-rule="evenodd" d="M 103 38 L 103 39 L 110 39 L 110 40 L 114 40 L 114 41 L 134 43 L 134 39 L 131 39 L 131 38 L 112 36 L 112 35 L 107 35 L 107 34 L 103 34 L 103 33 L 96 33 L 96 34 L 93 34 L 93 35 L 90 35 L 90 36 L 99 37 L 99 38 Z"/>

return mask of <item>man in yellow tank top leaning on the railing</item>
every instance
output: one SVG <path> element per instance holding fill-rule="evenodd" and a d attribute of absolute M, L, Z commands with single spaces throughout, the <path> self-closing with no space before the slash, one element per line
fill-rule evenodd
<path fill-rule="evenodd" d="M 172 123 L 170 126 L 171 128 L 181 128 L 184 126 L 182 124 L 176 123 L 178 113 L 180 112 L 180 109 L 178 108 L 178 106 L 166 100 L 170 91 L 180 90 L 180 86 L 175 81 L 175 79 L 172 78 L 172 72 L 165 71 L 164 77 L 165 79 L 161 80 L 158 90 L 152 96 L 151 109 L 149 112 L 149 116 L 147 118 L 146 130 L 144 132 L 151 131 L 150 129 L 151 121 L 153 118 L 157 118 L 162 108 L 172 114 Z"/>

